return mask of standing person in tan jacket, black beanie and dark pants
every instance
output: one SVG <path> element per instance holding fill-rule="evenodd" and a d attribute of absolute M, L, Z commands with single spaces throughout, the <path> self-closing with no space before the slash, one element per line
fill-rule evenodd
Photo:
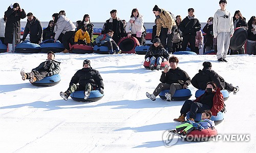
<path fill-rule="evenodd" d="M 176 29 L 176 23 L 173 19 L 170 12 L 165 11 L 164 9 L 159 9 L 157 5 L 153 8 L 153 13 L 156 15 L 157 18 L 157 33 L 156 35 L 159 36 L 160 41 L 163 47 L 169 53 L 173 52 L 173 38 L 174 38 L 174 31 Z M 167 44 L 166 44 L 167 39 Z"/>

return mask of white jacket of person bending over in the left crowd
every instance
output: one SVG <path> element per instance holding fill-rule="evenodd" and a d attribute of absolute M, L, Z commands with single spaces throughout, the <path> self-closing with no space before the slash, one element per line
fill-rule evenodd
<path fill-rule="evenodd" d="M 55 36 L 54 39 L 58 39 L 61 33 L 65 34 L 68 31 L 75 31 L 76 26 L 65 15 L 59 15 L 56 25 L 54 26 Z"/>

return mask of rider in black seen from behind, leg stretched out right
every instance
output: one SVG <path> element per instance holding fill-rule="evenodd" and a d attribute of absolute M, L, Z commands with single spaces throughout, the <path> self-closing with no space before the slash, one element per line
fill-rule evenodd
<path fill-rule="evenodd" d="M 195 88 L 200 90 L 205 90 L 207 82 L 214 81 L 218 88 L 221 90 L 225 89 L 229 92 L 236 94 L 239 91 L 239 87 L 233 87 L 231 84 L 225 82 L 223 77 L 218 75 L 214 70 L 211 70 L 211 63 L 209 61 L 203 62 L 203 70 L 199 70 L 199 73 L 196 74 L 191 83 Z"/>

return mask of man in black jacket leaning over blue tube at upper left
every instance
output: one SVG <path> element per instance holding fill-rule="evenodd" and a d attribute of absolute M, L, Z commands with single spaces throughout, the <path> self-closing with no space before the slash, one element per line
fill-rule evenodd
<path fill-rule="evenodd" d="M 42 40 L 42 24 L 31 12 L 27 14 L 28 20 L 24 30 L 23 38 L 24 41 L 29 34 L 29 40 L 31 43 L 39 44 Z"/>

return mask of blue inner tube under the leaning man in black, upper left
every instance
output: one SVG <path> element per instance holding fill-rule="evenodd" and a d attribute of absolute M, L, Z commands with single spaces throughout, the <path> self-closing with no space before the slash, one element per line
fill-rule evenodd
<path fill-rule="evenodd" d="M 25 40 L 19 43 L 15 47 L 16 53 L 39 53 L 40 45 L 36 43 L 31 43 L 29 40 Z"/>

